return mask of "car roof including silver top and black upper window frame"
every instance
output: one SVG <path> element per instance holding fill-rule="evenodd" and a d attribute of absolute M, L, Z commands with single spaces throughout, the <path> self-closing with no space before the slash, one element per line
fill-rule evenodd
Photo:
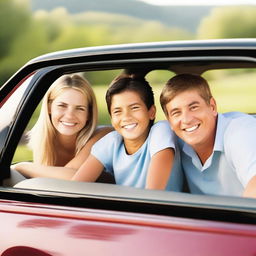
<path fill-rule="evenodd" d="M 76 48 L 52 52 L 28 61 L 0 88 L 0 101 L 24 77 L 41 68 L 74 68 L 83 65 L 92 70 L 123 69 L 126 73 L 146 75 L 155 69 L 176 74 L 196 73 L 222 68 L 255 67 L 256 39 L 214 39 L 163 41 Z M 71 70 L 70 69 L 70 70 Z M 85 69 L 77 69 L 79 71 Z"/>

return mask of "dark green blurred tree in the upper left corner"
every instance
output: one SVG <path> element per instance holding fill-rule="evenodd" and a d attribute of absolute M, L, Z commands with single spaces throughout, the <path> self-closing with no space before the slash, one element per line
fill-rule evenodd
<path fill-rule="evenodd" d="M 49 33 L 28 0 L 0 0 L 0 86 L 28 60 L 47 51 Z"/>

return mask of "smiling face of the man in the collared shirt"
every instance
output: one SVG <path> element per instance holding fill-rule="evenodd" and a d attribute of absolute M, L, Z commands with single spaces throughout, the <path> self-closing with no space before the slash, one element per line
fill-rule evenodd
<path fill-rule="evenodd" d="M 166 110 L 173 131 L 195 151 L 213 147 L 217 118 L 213 98 L 207 104 L 197 90 L 184 91 L 166 105 Z"/>

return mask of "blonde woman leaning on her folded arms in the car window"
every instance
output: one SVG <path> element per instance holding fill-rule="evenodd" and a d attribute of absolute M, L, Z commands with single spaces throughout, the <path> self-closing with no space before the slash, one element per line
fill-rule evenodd
<path fill-rule="evenodd" d="M 112 131 L 97 129 L 97 121 L 96 99 L 89 82 L 80 75 L 63 75 L 44 96 L 39 118 L 29 133 L 34 162 L 17 163 L 12 169 L 26 178 L 71 179 L 92 145 Z"/>

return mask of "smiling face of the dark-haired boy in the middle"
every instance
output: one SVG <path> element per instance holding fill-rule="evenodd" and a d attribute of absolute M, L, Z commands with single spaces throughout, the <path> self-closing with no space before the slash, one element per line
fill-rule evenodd
<path fill-rule="evenodd" d="M 136 141 L 142 145 L 148 136 L 149 122 L 155 118 L 155 107 L 148 110 L 137 92 L 124 91 L 112 97 L 110 111 L 112 125 L 125 144 Z"/>

